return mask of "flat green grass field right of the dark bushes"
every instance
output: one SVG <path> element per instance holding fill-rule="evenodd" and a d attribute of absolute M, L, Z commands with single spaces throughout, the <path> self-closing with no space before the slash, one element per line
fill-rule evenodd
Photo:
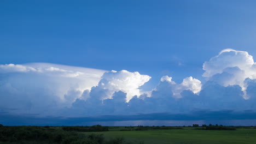
<path fill-rule="evenodd" d="M 110 129 L 110 130 L 118 130 Z M 142 131 L 104 131 L 94 132 L 103 134 L 106 139 L 124 137 L 125 141 L 139 143 L 256 143 L 256 129 L 237 130 L 196 130 L 194 128 L 142 130 Z M 248 134 L 248 137 L 247 137 Z"/>

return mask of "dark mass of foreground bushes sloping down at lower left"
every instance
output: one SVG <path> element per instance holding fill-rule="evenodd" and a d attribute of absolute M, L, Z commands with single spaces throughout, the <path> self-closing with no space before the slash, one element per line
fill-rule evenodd
<path fill-rule="evenodd" d="M 77 132 L 67 132 L 61 129 L 20 126 L 1 127 L 0 141 L 20 142 L 20 141 L 48 141 L 49 143 L 79 144 L 79 143 L 103 143 L 103 135 L 82 134 Z"/>

